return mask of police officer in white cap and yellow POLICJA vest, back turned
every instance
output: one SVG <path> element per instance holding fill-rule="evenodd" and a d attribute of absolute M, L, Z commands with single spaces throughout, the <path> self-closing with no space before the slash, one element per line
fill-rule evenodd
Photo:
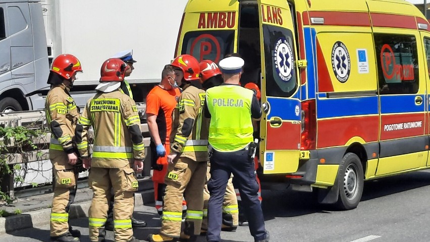
<path fill-rule="evenodd" d="M 252 159 L 255 144 L 251 118 L 259 119 L 261 108 L 253 91 L 239 85 L 243 65 L 240 57 L 223 59 L 220 69 L 224 83 L 206 91 L 205 115 L 210 117 L 208 139 L 212 147 L 206 238 L 212 242 L 221 240 L 222 198 L 231 173 L 239 183 L 251 235 L 255 241 L 269 241 Z"/>

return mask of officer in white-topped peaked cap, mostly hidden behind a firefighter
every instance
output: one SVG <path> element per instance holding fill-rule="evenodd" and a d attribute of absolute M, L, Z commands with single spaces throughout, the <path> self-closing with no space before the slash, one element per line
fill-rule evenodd
<path fill-rule="evenodd" d="M 124 61 L 129 67 L 125 72 L 125 77 L 128 77 L 131 75 L 131 73 L 134 70 L 133 64 L 136 63 L 136 61 L 133 59 L 133 50 L 119 52 L 111 58 L 118 58 Z M 133 93 L 131 91 L 130 85 L 127 82 L 127 80 L 124 79 L 124 81 L 121 82 L 120 91 L 127 94 L 128 96 L 130 96 L 131 99 L 133 99 Z M 111 200 L 109 201 L 108 221 L 106 221 L 106 224 L 105 224 L 106 230 L 110 230 L 110 231 L 114 230 L 113 217 L 114 217 L 114 196 L 111 196 Z M 144 228 L 146 227 L 146 222 L 132 217 L 131 225 L 133 228 Z"/>

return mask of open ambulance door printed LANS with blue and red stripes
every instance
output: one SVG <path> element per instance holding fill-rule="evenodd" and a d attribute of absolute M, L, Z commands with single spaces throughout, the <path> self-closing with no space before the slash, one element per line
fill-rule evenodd
<path fill-rule="evenodd" d="M 298 169 L 301 103 L 293 18 L 285 0 L 258 0 L 261 44 L 260 161 L 264 174 Z"/>

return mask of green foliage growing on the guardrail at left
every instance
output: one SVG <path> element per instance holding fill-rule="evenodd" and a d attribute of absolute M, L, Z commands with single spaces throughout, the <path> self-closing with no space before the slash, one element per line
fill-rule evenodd
<path fill-rule="evenodd" d="M 14 174 L 15 183 L 23 183 L 25 174 L 27 173 L 27 164 L 15 164 L 10 165 L 9 160 L 14 154 L 24 154 L 30 151 L 37 151 L 36 157 L 41 158 L 43 153 L 40 151 L 37 142 L 35 140 L 46 135 L 47 130 L 41 125 L 29 125 L 26 127 L 1 127 L 0 126 L 0 182 L 4 177 Z M 19 174 L 18 174 L 19 173 Z M 24 174 L 24 175 L 23 175 Z M 37 186 L 37 183 L 32 182 L 33 187 Z M 7 192 L 0 190 L 0 200 L 11 204 L 14 198 L 11 198 Z M 16 210 L 20 212 L 21 210 Z M 2 210 L 0 210 L 0 217 Z M 4 212 L 3 212 L 4 213 Z"/>

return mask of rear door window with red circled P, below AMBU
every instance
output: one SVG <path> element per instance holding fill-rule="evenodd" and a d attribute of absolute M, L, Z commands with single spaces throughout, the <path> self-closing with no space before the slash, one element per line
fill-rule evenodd
<path fill-rule="evenodd" d="M 181 54 L 192 55 L 199 62 L 211 60 L 218 64 L 225 55 L 233 53 L 234 33 L 234 30 L 188 32 Z"/>

